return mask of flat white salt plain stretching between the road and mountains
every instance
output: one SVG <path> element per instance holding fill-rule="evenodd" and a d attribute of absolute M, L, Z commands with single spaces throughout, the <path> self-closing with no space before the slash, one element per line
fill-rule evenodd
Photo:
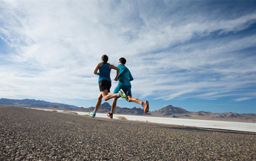
<path fill-rule="evenodd" d="M 35 109 L 38 109 L 38 108 L 35 108 Z M 49 110 L 49 109 L 40 109 L 40 110 Z M 57 110 L 57 111 L 62 112 L 63 110 Z M 77 111 L 72 111 L 72 112 L 76 112 L 79 115 L 88 114 L 88 112 L 77 112 Z M 149 121 L 149 122 L 160 123 L 160 124 L 175 124 L 175 125 L 205 127 L 205 128 L 214 128 L 214 129 L 256 132 L 256 123 L 179 119 L 179 118 L 122 115 L 122 114 L 114 114 L 113 119 L 118 119 L 118 116 L 123 116 L 127 120 L 132 120 L 132 121 Z M 108 118 L 106 113 L 96 113 L 96 117 Z"/>

